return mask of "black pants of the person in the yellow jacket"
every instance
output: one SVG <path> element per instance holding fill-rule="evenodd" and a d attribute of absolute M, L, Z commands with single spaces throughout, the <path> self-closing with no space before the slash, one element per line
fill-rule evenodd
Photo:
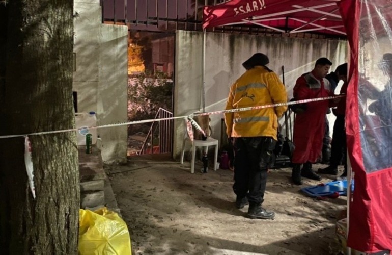
<path fill-rule="evenodd" d="M 276 141 L 271 137 L 234 139 L 234 185 L 237 197 L 247 196 L 250 203 L 263 203 L 268 167 Z"/>

